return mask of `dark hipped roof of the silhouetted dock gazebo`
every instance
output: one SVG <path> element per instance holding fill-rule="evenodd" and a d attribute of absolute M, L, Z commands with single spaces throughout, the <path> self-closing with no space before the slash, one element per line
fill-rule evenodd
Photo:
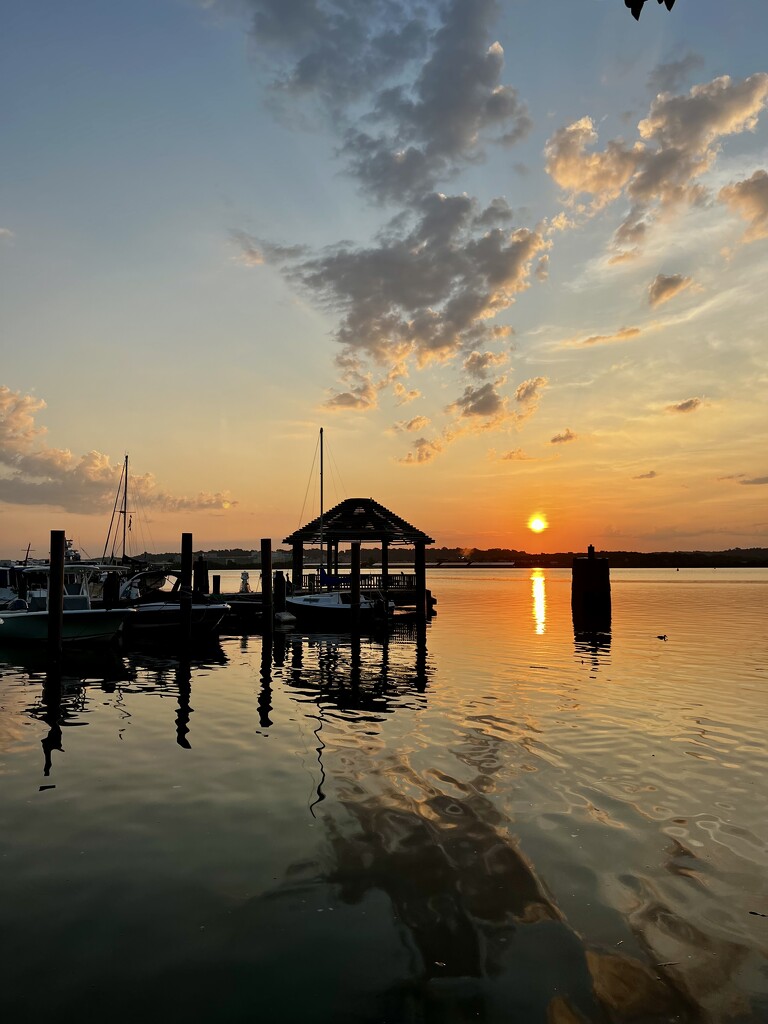
<path fill-rule="evenodd" d="M 284 544 L 318 544 L 321 540 L 321 517 L 301 526 Z M 323 514 L 323 540 L 364 544 L 373 541 L 388 541 L 390 544 L 434 544 L 431 537 L 400 519 L 394 512 L 379 505 L 373 498 L 347 498 Z"/>

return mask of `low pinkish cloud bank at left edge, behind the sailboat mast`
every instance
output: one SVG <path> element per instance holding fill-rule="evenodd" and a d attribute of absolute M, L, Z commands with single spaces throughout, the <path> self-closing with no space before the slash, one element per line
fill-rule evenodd
<path fill-rule="evenodd" d="M 0 386 L 0 501 L 13 505 L 50 505 L 68 512 L 108 511 L 115 499 L 122 462 L 91 451 L 76 457 L 68 449 L 45 444 L 45 428 L 35 416 L 46 408 L 41 398 Z M 157 489 L 151 473 L 131 477 L 131 489 L 145 508 L 160 511 L 224 509 L 237 505 L 226 494 L 175 497 Z"/>

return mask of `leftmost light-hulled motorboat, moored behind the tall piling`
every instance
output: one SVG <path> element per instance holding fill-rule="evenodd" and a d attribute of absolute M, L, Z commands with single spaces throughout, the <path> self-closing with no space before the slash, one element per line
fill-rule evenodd
<path fill-rule="evenodd" d="M 15 566 L 16 592 L 0 611 L 0 642 L 40 643 L 48 639 L 47 565 Z M 61 640 L 96 643 L 114 640 L 133 612 L 130 608 L 94 608 L 89 583 L 91 568 L 65 566 Z"/>

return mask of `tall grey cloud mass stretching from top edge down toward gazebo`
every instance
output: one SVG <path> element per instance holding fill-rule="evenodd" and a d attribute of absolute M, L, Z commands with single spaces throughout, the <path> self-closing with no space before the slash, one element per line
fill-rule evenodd
<path fill-rule="evenodd" d="M 470 382 L 492 376 L 506 358 L 493 346 L 513 333 L 499 317 L 546 279 L 551 245 L 514 226 L 504 197 L 480 204 L 440 189 L 488 146 L 513 145 L 531 127 L 504 81 L 504 49 L 493 35 L 497 0 L 240 2 L 275 109 L 309 114 L 307 126 L 325 115 L 360 194 L 394 206 L 369 244 L 312 252 L 232 231 L 242 262 L 275 267 L 337 318 L 339 376 L 326 408 L 372 410 L 384 388 L 398 404 L 418 397 L 392 367 L 407 375 L 412 366 L 462 358 Z M 504 422 L 509 399 L 495 388 L 468 384 L 449 415 L 465 425 Z M 434 454 L 422 446 L 412 458 Z"/>

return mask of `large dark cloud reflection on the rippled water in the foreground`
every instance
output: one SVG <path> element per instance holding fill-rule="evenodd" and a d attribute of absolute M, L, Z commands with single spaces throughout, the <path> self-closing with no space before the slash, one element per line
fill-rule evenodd
<path fill-rule="evenodd" d="M 519 1011 L 568 1024 L 694 1020 L 674 981 L 637 957 L 587 948 L 568 926 L 494 802 L 505 745 L 465 730 L 445 759 L 453 773 L 445 760 L 420 770 L 418 753 L 328 750 L 326 771 L 346 815 L 324 805 L 330 859 L 312 865 L 315 880 L 319 872 L 349 906 L 386 895 L 409 953 L 399 997 L 427 1019 Z M 289 895 L 297 873 L 301 865 L 289 867 L 272 896 Z"/>

